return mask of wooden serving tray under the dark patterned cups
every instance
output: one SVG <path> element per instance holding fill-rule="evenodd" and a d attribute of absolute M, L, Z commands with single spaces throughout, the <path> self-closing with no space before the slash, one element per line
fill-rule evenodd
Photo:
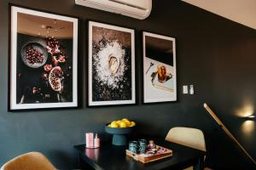
<path fill-rule="evenodd" d="M 143 163 L 148 163 L 150 161 L 157 161 L 169 156 L 172 156 L 172 150 L 166 149 L 162 146 L 156 145 L 157 148 L 165 149 L 164 153 L 155 153 L 155 154 L 143 154 L 143 153 L 133 153 L 130 150 L 126 150 L 126 156 L 131 156 L 133 159 L 137 161 L 141 161 Z"/>

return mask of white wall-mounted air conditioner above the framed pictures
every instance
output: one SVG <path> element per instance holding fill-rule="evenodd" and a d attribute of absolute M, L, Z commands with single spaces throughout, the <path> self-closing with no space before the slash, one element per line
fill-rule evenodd
<path fill-rule="evenodd" d="M 139 20 L 147 18 L 152 8 L 152 0 L 75 0 L 75 3 Z"/>

